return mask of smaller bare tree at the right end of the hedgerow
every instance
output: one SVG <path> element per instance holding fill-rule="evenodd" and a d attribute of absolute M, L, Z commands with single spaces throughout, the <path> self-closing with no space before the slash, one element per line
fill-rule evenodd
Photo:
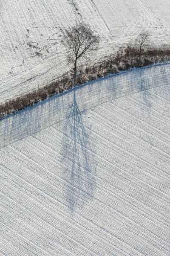
<path fill-rule="evenodd" d="M 147 47 L 150 39 L 150 33 L 142 32 L 135 41 L 136 47 L 139 49 L 139 61 L 141 60 L 142 48 Z"/>

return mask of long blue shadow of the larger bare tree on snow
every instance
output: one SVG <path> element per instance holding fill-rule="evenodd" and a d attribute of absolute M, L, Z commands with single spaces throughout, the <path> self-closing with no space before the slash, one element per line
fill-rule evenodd
<path fill-rule="evenodd" d="M 90 129 L 83 124 L 82 113 L 76 101 L 76 90 L 67 117 L 62 149 L 67 166 L 63 172 L 66 180 L 64 194 L 68 208 L 73 212 L 76 207 L 82 208 L 93 199 L 96 186 L 96 164 L 89 153 Z"/>

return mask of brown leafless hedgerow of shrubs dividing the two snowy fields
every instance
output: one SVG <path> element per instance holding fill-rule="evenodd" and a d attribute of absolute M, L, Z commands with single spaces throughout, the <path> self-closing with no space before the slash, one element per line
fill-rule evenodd
<path fill-rule="evenodd" d="M 119 71 L 128 70 L 133 67 L 144 67 L 169 60 L 170 49 L 168 47 L 143 49 L 140 58 L 138 48 L 130 46 L 120 48 L 114 54 L 107 56 L 105 60 L 101 60 L 92 66 L 80 67 L 77 71 L 76 84 L 83 84 L 87 81 L 105 77 L 108 74 L 116 74 Z M 71 89 L 73 87 L 73 77 L 73 70 L 70 70 L 66 75 L 55 79 L 40 89 L 8 100 L 0 105 L 0 118 Z"/>

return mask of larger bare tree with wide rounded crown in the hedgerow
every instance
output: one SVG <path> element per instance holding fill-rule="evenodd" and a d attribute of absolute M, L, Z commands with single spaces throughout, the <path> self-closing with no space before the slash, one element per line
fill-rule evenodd
<path fill-rule="evenodd" d="M 68 49 L 68 63 L 74 64 L 74 84 L 77 77 L 77 61 L 80 58 L 89 58 L 89 55 L 98 49 L 99 35 L 96 35 L 90 26 L 79 24 L 65 29 L 62 44 Z"/>

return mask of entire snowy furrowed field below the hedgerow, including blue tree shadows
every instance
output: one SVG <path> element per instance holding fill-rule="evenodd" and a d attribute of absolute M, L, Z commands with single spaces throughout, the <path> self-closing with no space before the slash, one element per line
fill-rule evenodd
<path fill-rule="evenodd" d="M 0 128 L 0 255 L 170 255 L 170 64 L 89 83 Z"/>

